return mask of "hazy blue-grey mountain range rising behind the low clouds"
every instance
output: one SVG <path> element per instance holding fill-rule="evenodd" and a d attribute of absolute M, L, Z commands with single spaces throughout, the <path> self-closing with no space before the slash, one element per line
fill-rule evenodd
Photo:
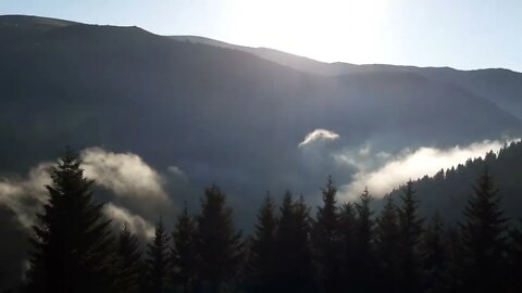
<path fill-rule="evenodd" d="M 257 203 L 266 189 L 314 196 L 327 174 L 351 180 L 352 167 L 309 162 L 298 144 L 314 129 L 339 137 L 318 157 L 363 145 L 375 154 L 446 148 L 522 129 L 522 76 L 506 69 L 326 64 L 21 15 L 0 16 L 0 40 L 4 174 L 57 157 L 65 144 L 97 145 Z"/>

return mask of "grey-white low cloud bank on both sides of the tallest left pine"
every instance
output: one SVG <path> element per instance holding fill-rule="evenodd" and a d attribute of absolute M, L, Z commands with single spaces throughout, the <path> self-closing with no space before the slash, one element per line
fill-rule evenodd
<path fill-rule="evenodd" d="M 137 233 L 150 235 L 151 226 L 144 216 L 156 217 L 172 205 L 162 176 L 132 153 L 90 148 L 82 151 L 80 156 L 85 176 L 110 191 L 104 198 L 108 202 L 104 213 L 114 222 L 128 222 Z M 13 211 L 26 229 L 36 222 L 36 213 L 48 201 L 46 184 L 51 183 L 52 166 L 54 163 L 45 162 L 32 168 L 26 177 L 0 177 L 0 204 Z M 177 168 L 177 174 L 183 171 Z"/>

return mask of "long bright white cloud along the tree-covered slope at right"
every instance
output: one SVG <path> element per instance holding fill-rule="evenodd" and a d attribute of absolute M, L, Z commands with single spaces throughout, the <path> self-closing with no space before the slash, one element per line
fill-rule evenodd
<path fill-rule="evenodd" d="M 398 155 L 376 154 L 377 161 L 386 160 L 378 167 L 369 167 L 360 158 L 338 155 L 347 164 L 356 165 L 359 171 L 351 183 L 339 188 L 340 196 L 353 200 L 368 187 L 376 196 L 382 196 L 394 188 L 405 183 L 410 178 L 417 179 L 424 175 L 433 176 L 440 169 L 464 163 L 468 158 L 484 156 L 489 151 L 497 152 L 504 141 L 475 142 L 467 146 L 456 145 L 449 149 L 420 148 L 414 151 L 403 150 Z"/>

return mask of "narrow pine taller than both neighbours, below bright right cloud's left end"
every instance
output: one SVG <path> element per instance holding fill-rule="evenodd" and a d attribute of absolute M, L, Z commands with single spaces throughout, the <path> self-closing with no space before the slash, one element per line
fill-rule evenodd
<path fill-rule="evenodd" d="M 370 208 L 372 195 L 368 188 L 359 196 L 359 202 L 355 203 L 356 208 L 356 230 L 355 230 L 355 267 L 353 290 L 370 292 L 374 289 L 373 272 L 373 212 Z"/>

